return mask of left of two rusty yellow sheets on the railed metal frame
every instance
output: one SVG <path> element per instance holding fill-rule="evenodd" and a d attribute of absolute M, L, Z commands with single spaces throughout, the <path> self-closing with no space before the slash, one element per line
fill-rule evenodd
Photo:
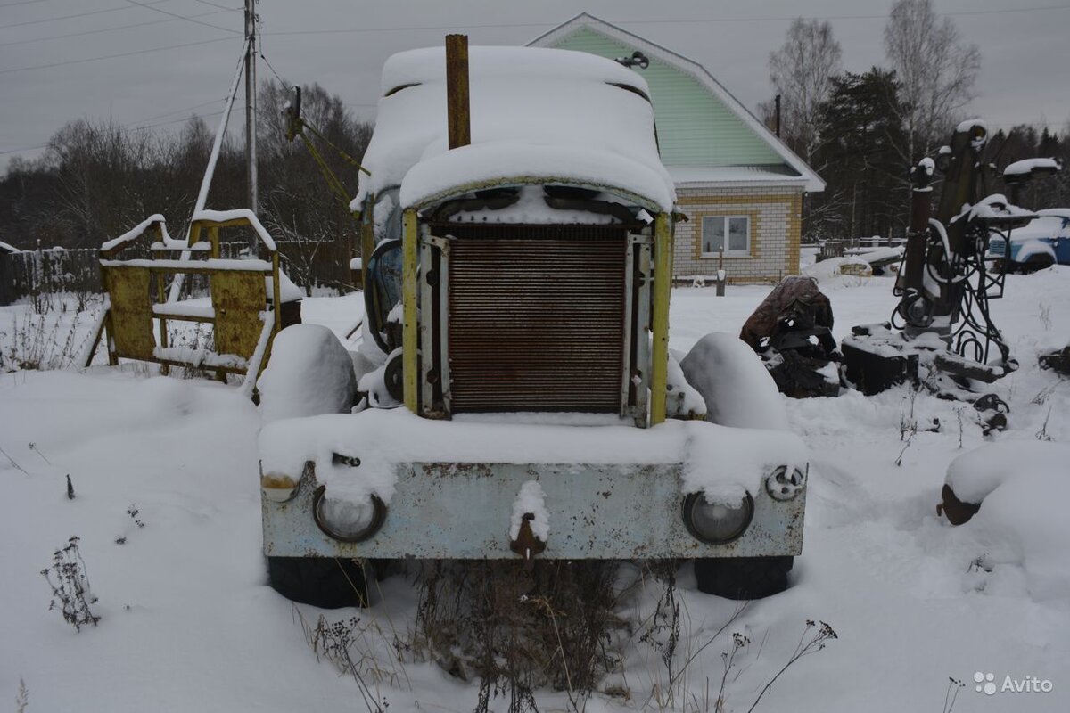
<path fill-rule="evenodd" d="M 118 356 L 153 359 L 151 274 L 148 267 L 102 267 L 111 300 L 111 334 Z"/>

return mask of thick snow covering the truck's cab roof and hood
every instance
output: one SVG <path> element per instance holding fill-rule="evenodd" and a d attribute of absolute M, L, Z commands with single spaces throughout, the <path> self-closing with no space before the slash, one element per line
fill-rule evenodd
<path fill-rule="evenodd" d="M 472 143 L 448 151 L 445 49 L 383 66 L 383 97 L 351 204 L 400 186 L 403 207 L 498 183 L 606 189 L 669 211 L 646 82 L 601 57 L 534 47 L 469 49 Z"/>

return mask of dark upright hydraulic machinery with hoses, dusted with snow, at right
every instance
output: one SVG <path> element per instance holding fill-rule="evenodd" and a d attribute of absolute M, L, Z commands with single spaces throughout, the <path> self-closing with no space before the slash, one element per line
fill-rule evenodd
<path fill-rule="evenodd" d="M 974 401 L 991 412 L 990 428 L 1002 428 L 1006 404 L 994 394 L 970 396 L 975 384 L 991 384 L 1018 367 L 989 312 L 1005 283 L 1003 270 L 991 269 L 989 246 L 1010 239 L 1037 216 L 999 193 L 985 196 L 987 141 L 982 121 L 962 122 L 935 160 L 923 158 L 914 168 L 906 251 L 896 282 L 899 305 L 890 322 L 854 327 L 842 346 L 847 381 L 863 392 L 924 381 L 951 398 Z M 931 218 L 929 184 L 937 170 L 944 180 Z M 1005 179 L 1021 184 L 1051 170 L 1041 162 Z M 927 371 L 931 378 L 922 378 Z"/>

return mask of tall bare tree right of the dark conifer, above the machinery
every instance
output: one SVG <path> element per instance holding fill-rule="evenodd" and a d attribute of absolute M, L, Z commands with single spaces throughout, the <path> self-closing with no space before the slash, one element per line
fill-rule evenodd
<path fill-rule="evenodd" d="M 949 17 L 936 17 L 932 0 L 897 0 L 884 44 L 900 82 L 913 162 L 929 153 L 974 97 L 981 55 L 977 45 L 961 41 Z"/>

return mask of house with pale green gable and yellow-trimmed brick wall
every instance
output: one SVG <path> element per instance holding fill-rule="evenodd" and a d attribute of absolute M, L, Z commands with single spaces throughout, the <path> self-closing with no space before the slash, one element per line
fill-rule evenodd
<path fill-rule="evenodd" d="M 798 273 L 802 195 L 825 182 L 701 64 L 586 13 L 529 46 L 639 60 L 631 66 L 649 86 L 661 161 L 688 217 L 676 224 L 675 277 L 715 276 L 721 249 L 730 282 Z"/>

